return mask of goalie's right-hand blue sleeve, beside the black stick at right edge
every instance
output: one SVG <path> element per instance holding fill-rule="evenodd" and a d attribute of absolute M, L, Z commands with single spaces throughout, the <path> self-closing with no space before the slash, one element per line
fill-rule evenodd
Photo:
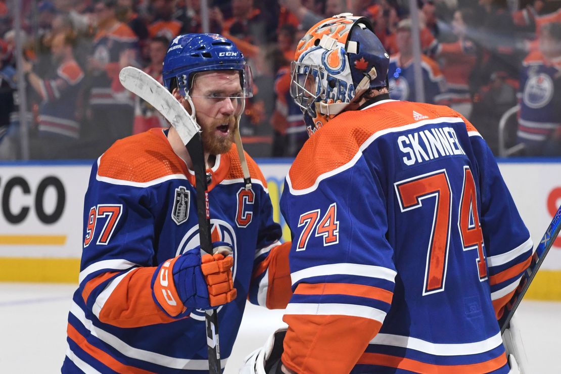
<path fill-rule="evenodd" d="M 491 299 L 496 317 L 500 318 L 522 273 L 530 266 L 534 245 L 491 150 L 481 137 L 472 138 L 480 173 L 481 228 Z"/>

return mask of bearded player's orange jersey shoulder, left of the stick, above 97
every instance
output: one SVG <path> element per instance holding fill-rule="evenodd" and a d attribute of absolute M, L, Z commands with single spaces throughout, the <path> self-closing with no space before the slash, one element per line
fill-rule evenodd
<path fill-rule="evenodd" d="M 187 174 L 161 128 L 116 141 L 99 160 L 98 176 L 145 183 L 173 174 Z"/>

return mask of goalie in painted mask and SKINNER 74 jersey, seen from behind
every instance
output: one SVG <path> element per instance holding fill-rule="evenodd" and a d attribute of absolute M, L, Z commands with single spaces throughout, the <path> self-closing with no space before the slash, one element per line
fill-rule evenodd
<path fill-rule="evenodd" d="M 519 352 L 507 358 L 497 318 L 530 264 L 530 233 L 465 117 L 390 99 L 371 30 L 334 16 L 296 49 L 310 139 L 280 201 L 294 238 L 288 330 L 282 365 L 275 342 L 242 372 L 507 373 Z"/>

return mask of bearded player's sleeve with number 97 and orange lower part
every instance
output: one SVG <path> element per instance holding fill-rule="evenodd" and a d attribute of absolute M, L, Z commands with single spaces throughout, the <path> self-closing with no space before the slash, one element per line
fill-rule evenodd
<path fill-rule="evenodd" d="M 79 288 L 86 308 L 101 322 L 138 327 L 176 320 L 154 301 L 155 204 L 149 188 L 100 178 L 96 167 L 84 204 Z"/>

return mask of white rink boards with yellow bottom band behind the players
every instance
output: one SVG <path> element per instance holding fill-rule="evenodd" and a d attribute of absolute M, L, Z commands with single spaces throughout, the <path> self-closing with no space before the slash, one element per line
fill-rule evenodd
<path fill-rule="evenodd" d="M 257 160 L 285 239 L 289 232 L 278 202 L 290 161 Z M 0 281 L 76 283 L 90 166 L 90 161 L 0 163 Z M 532 239 L 539 241 L 561 204 L 561 160 L 507 159 L 499 167 Z M 528 297 L 561 300 L 561 238 Z"/>

